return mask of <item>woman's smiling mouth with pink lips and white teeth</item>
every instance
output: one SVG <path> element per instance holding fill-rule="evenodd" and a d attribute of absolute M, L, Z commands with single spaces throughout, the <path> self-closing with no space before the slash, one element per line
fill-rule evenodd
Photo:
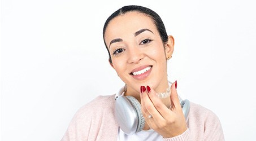
<path fill-rule="evenodd" d="M 130 74 L 136 80 L 144 80 L 147 76 L 149 76 L 152 70 L 152 67 L 153 67 L 152 65 L 144 65 L 136 69 L 133 69 Z"/>

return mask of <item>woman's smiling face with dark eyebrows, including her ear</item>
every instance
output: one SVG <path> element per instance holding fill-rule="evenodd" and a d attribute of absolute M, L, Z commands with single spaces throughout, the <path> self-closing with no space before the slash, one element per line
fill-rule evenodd
<path fill-rule="evenodd" d="M 173 46 L 163 45 L 149 16 L 127 12 L 115 17 L 106 28 L 105 42 L 110 64 L 127 84 L 127 91 L 139 92 L 142 85 L 156 91 L 168 87 L 166 58 Z"/>

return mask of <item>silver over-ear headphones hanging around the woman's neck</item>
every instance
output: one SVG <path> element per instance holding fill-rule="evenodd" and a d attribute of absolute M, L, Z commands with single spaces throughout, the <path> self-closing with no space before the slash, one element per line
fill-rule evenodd
<path fill-rule="evenodd" d="M 119 90 L 115 96 L 115 118 L 122 131 L 127 135 L 132 135 L 141 131 L 145 125 L 145 118 L 141 112 L 141 104 L 133 96 L 124 96 L 125 86 Z M 183 114 L 188 121 L 190 102 L 180 97 L 180 105 Z"/>

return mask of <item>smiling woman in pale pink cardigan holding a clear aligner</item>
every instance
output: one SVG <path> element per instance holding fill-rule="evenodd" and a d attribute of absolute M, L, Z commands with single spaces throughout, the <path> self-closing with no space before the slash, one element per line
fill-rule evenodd
<path fill-rule="evenodd" d="M 111 67 L 125 83 L 121 93 L 141 104 L 143 130 L 125 134 L 114 114 L 115 95 L 98 96 L 75 114 L 62 140 L 224 140 L 220 121 L 210 110 L 190 103 L 185 118 L 177 81 L 167 80 L 174 39 L 154 11 L 120 8 L 106 20 L 103 39 Z"/>

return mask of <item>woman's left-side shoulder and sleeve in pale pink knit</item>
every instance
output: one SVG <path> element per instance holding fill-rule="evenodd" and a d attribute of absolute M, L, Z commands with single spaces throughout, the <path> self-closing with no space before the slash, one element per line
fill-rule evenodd
<path fill-rule="evenodd" d="M 115 95 L 97 96 L 85 104 L 73 116 L 62 140 L 96 140 L 101 136 L 107 136 L 107 131 L 117 130 L 118 126 L 113 118 L 114 104 Z"/>

